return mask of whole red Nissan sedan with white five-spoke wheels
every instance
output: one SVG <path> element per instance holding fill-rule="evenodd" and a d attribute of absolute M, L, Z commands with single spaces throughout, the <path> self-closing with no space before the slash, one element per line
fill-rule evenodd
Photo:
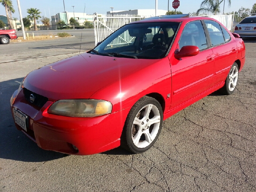
<path fill-rule="evenodd" d="M 17 129 L 45 150 L 142 153 L 166 118 L 216 90 L 232 94 L 243 40 L 211 18 L 173 17 L 127 24 L 93 50 L 30 72 L 10 100 Z"/>

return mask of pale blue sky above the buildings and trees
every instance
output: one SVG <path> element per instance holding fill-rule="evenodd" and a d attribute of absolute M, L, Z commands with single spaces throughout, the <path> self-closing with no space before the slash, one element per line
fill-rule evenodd
<path fill-rule="evenodd" d="M 114 7 L 113 10 L 134 10 L 134 9 L 155 9 L 155 0 L 64 0 L 65 10 L 68 12 L 84 12 L 86 14 L 106 14 L 110 11 L 110 7 Z M 169 0 L 169 10 L 172 8 L 173 0 Z M 180 6 L 177 11 L 186 13 L 196 12 L 200 8 L 202 0 L 180 0 Z M 246 3 L 245 3 L 246 2 Z M 231 6 L 228 7 L 227 0 L 225 3 L 224 12 L 238 11 L 239 8 L 250 8 L 252 9 L 253 4 L 256 0 L 231 0 Z M 15 13 L 13 17 L 20 19 L 18 12 L 18 5 L 16 0 L 12 0 L 12 4 Z M 28 15 L 28 8 L 37 8 L 41 12 L 41 16 L 47 16 L 48 18 L 54 15 L 54 13 L 64 12 L 63 0 L 20 0 L 20 7 L 22 10 L 22 17 Z M 223 3 L 220 5 L 223 10 Z M 158 0 L 158 9 L 167 10 L 168 0 Z M 49 13 L 50 10 L 50 13 Z M 0 4 L 0 15 L 6 15 L 5 8 Z"/>

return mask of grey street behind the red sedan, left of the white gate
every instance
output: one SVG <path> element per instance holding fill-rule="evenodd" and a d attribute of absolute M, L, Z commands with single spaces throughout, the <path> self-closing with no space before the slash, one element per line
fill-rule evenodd
<path fill-rule="evenodd" d="M 85 52 L 95 47 L 94 30 L 40 30 L 34 31 L 34 35 L 52 34 L 58 32 L 68 32 L 74 35 L 70 38 L 52 38 L 50 40 L 17 42 L 12 40 L 10 44 L 0 44 L 0 64 L 6 62 L 15 62 L 19 60 L 28 60 L 31 58 L 40 58 L 48 56 L 57 56 L 62 54 Z M 28 32 L 32 33 L 32 32 Z M 82 34 L 82 38 L 81 38 Z M 18 32 L 22 36 L 22 32 Z"/>

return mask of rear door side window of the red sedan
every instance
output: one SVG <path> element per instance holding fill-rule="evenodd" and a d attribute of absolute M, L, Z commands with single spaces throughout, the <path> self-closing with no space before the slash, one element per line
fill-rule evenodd
<path fill-rule="evenodd" d="M 211 20 L 204 20 L 204 22 L 208 29 L 212 46 L 225 43 L 220 25 L 217 22 Z"/>

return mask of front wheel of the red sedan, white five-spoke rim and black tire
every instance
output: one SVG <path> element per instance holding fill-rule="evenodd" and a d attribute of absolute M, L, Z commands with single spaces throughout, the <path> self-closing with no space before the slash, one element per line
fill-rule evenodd
<path fill-rule="evenodd" d="M 132 153 L 145 152 L 156 142 L 162 122 L 163 112 L 159 102 L 148 96 L 140 98 L 126 118 L 121 146 Z"/>

